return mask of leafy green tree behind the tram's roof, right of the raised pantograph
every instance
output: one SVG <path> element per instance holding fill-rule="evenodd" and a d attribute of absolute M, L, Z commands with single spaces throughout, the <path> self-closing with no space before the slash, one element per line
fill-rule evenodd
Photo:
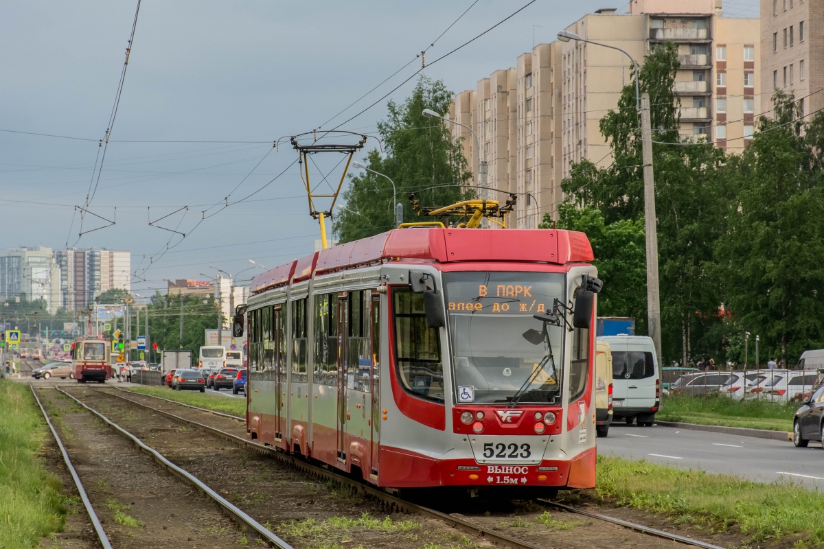
<path fill-rule="evenodd" d="M 447 206 L 472 194 L 465 187 L 472 174 L 461 143 L 452 140 L 445 123 L 423 115 L 424 109 L 448 112 L 452 97 L 442 81 L 420 77 L 412 95 L 401 105 L 390 101 L 387 119 L 378 123 L 383 152 L 369 151 L 364 164 L 395 182 L 404 221 L 428 221 L 411 211 L 410 193 L 416 193 L 424 206 Z M 371 172 L 352 175 L 343 196 L 348 210 L 335 212 L 334 221 L 340 242 L 395 227 L 392 185 L 385 177 Z"/>

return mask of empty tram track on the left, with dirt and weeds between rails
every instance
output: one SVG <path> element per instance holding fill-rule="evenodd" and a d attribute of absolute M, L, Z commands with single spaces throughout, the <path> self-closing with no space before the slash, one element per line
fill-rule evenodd
<path fill-rule="evenodd" d="M 49 389 L 30 387 L 104 549 L 228 548 L 247 534 L 270 547 L 293 549 L 199 478 L 68 392 L 55 385 L 71 400 L 59 398 L 44 405 L 40 396 Z M 57 427 L 54 417 L 59 418 Z M 105 424 L 103 430 L 97 421 Z"/>

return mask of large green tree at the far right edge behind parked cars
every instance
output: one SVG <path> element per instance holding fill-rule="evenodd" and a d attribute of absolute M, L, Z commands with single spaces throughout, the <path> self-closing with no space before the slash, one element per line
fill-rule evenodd
<path fill-rule="evenodd" d="M 800 102 L 777 91 L 775 118 L 731 170 L 719 278 L 733 337 L 761 337 L 762 355 L 792 365 L 824 347 L 824 118 L 803 123 Z"/>

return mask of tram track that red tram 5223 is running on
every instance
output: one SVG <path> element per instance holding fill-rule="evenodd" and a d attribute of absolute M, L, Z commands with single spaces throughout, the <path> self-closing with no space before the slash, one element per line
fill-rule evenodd
<path fill-rule="evenodd" d="M 190 426 L 194 426 L 199 430 L 204 430 L 211 435 L 217 436 L 222 440 L 227 440 L 232 444 L 236 444 L 241 446 L 242 448 L 249 449 L 250 451 L 254 451 L 258 454 L 265 454 L 269 457 L 274 457 L 278 459 L 281 463 L 284 463 L 290 467 L 297 468 L 298 470 L 304 472 L 307 475 L 312 477 L 320 477 L 326 480 L 334 481 L 334 482 L 344 482 L 347 483 L 349 486 L 352 486 L 358 492 L 369 495 L 372 498 L 375 498 L 381 501 L 384 505 L 389 506 L 392 509 L 399 509 L 405 513 L 413 513 L 413 514 L 420 514 L 422 516 L 426 516 L 432 519 L 438 519 L 443 523 L 447 523 L 448 525 L 452 526 L 453 528 L 461 529 L 466 533 L 471 533 L 476 537 L 480 537 L 487 542 L 492 542 L 494 545 L 498 547 L 513 547 L 516 549 L 539 549 L 540 545 L 536 545 L 532 542 L 528 542 L 526 540 L 519 539 L 517 537 L 509 536 L 505 533 L 501 533 L 494 528 L 488 528 L 482 524 L 472 522 L 471 520 L 467 520 L 461 516 L 456 516 L 455 514 L 447 514 L 437 509 L 432 509 L 429 507 L 425 507 L 423 505 L 416 504 L 409 500 L 400 499 L 394 495 L 387 494 L 384 491 L 378 490 L 372 486 L 368 486 L 363 484 L 362 482 L 357 482 L 350 477 L 346 477 L 341 475 L 337 472 L 332 472 L 328 469 L 318 467 L 314 464 L 307 463 L 306 461 L 296 458 L 294 456 L 290 456 L 288 454 L 284 454 L 283 452 L 274 449 L 270 446 L 265 446 L 262 444 L 258 444 L 247 440 L 245 438 L 245 433 L 243 435 L 236 435 L 229 433 L 225 430 L 219 429 L 218 427 L 210 426 L 205 424 L 203 421 L 194 421 L 193 419 L 180 416 L 175 413 L 171 413 L 168 409 L 158 409 L 157 407 L 152 407 L 150 404 L 146 403 L 145 399 L 151 400 L 159 400 L 162 402 L 169 402 L 174 405 L 174 407 L 178 408 L 180 411 L 180 407 L 183 407 L 188 410 L 192 410 L 199 414 L 211 414 L 213 416 L 221 416 L 226 419 L 230 419 L 232 421 L 246 421 L 245 418 L 240 416 L 232 416 L 231 414 L 226 414 L 224 412 L 216 412 L 213 410 L 209 410 L 208 408 L 203 407 L 195 407 L 190 404 L 185 404 L 183 402 L 173 401 L 171 399 L 162 398 L 162 397 L 155 397 L 153 395 L 146 395 L 142 393 L 131 393 L 126 391 L 122 388 L 115 388 L 118 393 L 128 393 L 129 396 L 142 398 L 144 402 L 138 402 L 137 400 L 133 400 L 132 398 L 127 398 L 121 394 L 111 393 L 109 391 L 101 390 L 92 388 L 91 390 L 95 391 L 96 393 L 105 393 L 109 394 L 112 397 L 119 398 L 126 402 L 130 402 L 133 405 L 138 407 L 143 407 L 144 409 L 150 410 L 152 412 L 156 412 L 166 418 L 170 419 L 171 421 L 176 421 L 179 423 L 187 424 Z M 633 523 L 630 521 L 616 519 L 614 517 L 610 517 L 605 514 L 594 513 L 587 509 L 580 509 L 570 505 L 563 505 L 555 501 L 551 500 L 535 500 L 537 505 L 541 505 L 547 508 L 555 508 L 555 509 L 563 509 L 565 512 L 579 514 L 582 516 L 586 516 L 590 519 L 597 519 L 604 521 L 606 523 L 616 524 L 621 528 L 626 528 L 632 530 L 637 533 L 643 533 L 647 536 L 654 536 L 659 537 L 662 539 L 670 540 L 671 542 L 676 542 L 677 544 L 684 544 L 690 545 L 692 547 L 703 547 L 704 549 L 723 549 L 720 546 L 702 542 L 700 540 L 696 540 L 691 537 L 681 536 L 677 533 L 669 533 L 664 530 L 659 530 L 657 528 L 650 528 L 643 524 Z"/>

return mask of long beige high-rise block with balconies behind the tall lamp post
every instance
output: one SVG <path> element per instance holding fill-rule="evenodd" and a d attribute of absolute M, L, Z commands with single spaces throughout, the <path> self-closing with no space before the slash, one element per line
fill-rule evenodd
<path fill-rule="evenodd" d="M 742 151 L 761 87 L 759 21 L 724 18 L 721 0 L 632 0 L 629 8 L 626 14 L 597 10 L 565 30 L 624 49 L 639 63 L 655 45 L 676 44 L 679 131 Z M 499 191 L 493 194 L 503 200 L 504 193 L 519 193 L 509 226 L 537 226 L 545 212 L 557 218 L 560 183 L 574 162 L 610 165 L 599 122 L 616 109 L 623 87 L 633 84 L 630 69 L 630 59 L 615 49 L 553 42 L 456 95 L 450 118 L 471 126 L 480 141 L 478 151 L 475 137 L 452 125 L 473 174 L 480 154 L 489 163 L 489 187 Z"/>

